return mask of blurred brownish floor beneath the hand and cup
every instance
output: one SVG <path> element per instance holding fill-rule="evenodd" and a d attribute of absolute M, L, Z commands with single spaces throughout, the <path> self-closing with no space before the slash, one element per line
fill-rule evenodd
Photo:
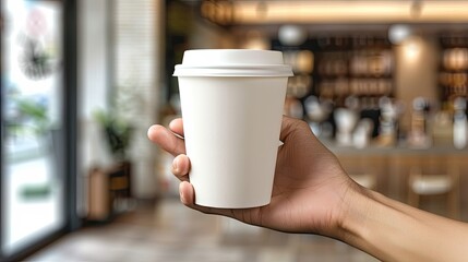
<path fill-rule="evenodd" d="M 112 223 L 64 236 L 26 261 L 376 261 L 343 242 L 247 226 L 187 209 L 177 199 L 136 207 Z"/>

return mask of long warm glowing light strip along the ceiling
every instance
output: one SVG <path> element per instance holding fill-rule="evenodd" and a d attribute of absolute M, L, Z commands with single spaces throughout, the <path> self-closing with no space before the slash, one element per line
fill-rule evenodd
<path fill-rule="evenodd" d="M 233 1 L 203 3 L 220 24 L 467 22 L 466 1 Z M 229 14 L 229 15 L 227 15 Z M 232 16 L 231 16 L 232 14 Z M 292 15 L 293 14 L 293 15 Z"/>

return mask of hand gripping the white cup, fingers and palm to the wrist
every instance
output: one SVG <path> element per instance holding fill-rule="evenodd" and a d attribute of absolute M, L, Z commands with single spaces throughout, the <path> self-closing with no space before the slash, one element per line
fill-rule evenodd
<path fill-rule="evenodd" d="M 182 119 L 172 120 L 169 129 L 155 124 L 148 130 L 149 140 L 176 156 L 172 172 L 181 180 L 181 202 L 203 213 L 281 231 L 337 237 L 344 200 L 350 188 L 359 190 L 304 121 L 284 117 L 280 132 L 284 145 L 278 148 L 271 203 L 253 209 L 199 206 L 194 204 L 196 195 L 190 183 L 190 159 L 184 155 L 184 141 L 180 136 L 183 136 Z"/>

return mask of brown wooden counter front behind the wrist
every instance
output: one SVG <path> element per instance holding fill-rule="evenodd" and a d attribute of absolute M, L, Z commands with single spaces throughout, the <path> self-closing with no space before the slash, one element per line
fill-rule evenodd
<path fill-rule="evenodd" d="M 355 148 L 322 141 L 340 160 L 350 176 L 374 176 L 375 190 L 401 202 L 407 202 L 409 172 L 421 168 L 424 174 L 458 172 L 461 216 L 468 221 L 468 148 L 456 150 L 452 145 L 428 150 L 399 147 Z"/>

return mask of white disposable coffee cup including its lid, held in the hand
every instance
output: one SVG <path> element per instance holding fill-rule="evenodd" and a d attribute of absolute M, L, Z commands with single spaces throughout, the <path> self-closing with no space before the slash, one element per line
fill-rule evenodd
<path fill-rule="evenodd" d="M 283 53 L 188 50 L 173 75 L 195 203 L 225 209 L 268 204 L 292 75 Z"/>

